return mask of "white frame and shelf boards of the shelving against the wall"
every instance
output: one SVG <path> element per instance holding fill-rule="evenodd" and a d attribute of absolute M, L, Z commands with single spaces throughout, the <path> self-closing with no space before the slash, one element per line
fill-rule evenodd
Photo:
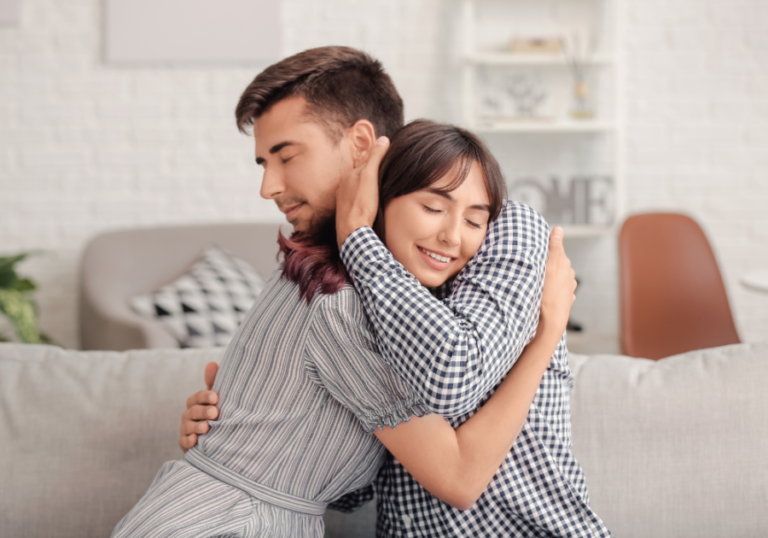
<path fill-rule="evenodd" d="M 607 160 L 610 165 L 600 168 L 600 174 L 611 177 L 613 183 L 613 223 L 610 225 L 592 225 L 592 224 L 564 224 L 566 228 L 566 237 L 600 237 L 615 233 L 618 224 L 621 222 L 624 214 L 624 173 L 622 169 L 623 156 L 621 154 L 623 147 L 623 120 L 621 117 L 621 71 L 622 65 L 619 54 L 616 50 L 616 43 L 619 37 L 618 24 L 618 3 L 621 0 L 549 0 L 550 4 L 555 5 L 568 4 L 570 9 L 578 4 L 578 8 L 583 10 L 600 11 L 602 24 L 599 32 L 602 35 L 597 39 L 601 45 L 599 52 L 590 54 L 585 59 L 585 66 L 593 72 L 599 73 L 596 76 L 602 77 L 610 88 L 603 99 L 596 101 L 595 119 L 581 120 L 572 119 L 568 114 L 555 114 L 549 118 L 549 121 L 525 120 L 521 118 L 510 117 L 488 117 L 480 113 L 480 94 L 483 88 L 479 87 L 481 77 L 478 73 L 481 70 L 488 72 L 494 69 L 519 69 L 538 72 L 548 70 L 554 72 L 559 80 L 569 77 L 569 65 L 564 55 L 556 53 L 511 53 L 500 50 L 489 50 L 487 46 L 478 45 L 478 7 L 482 7 L 483 2 L 501 6 L 507 13 L 511 13 L 516 7 L 526 6 L 539 10 L 541 14 L 542 6 L 547 0 L 463 0 L 462 20 L 464 32 L 464 50 L 462 55 L 462 115 L 464 125 L 477 132 L 483 137 L 492 137 L 495 146 L 492 151 L 499 157 L 500 153 L 505 153 L 506 147 L 516 147 L 520 145 L 521 137 L 531 139 L 534 137 L 540 146 L 546 146 L 549 140 L 553 145 L 557 145 L 562 152 L 571 154 L 578 153 L 584 148 L 610 147 L 609 151 L 603 151 L 603 154 L 609 154 Z M 493 6 L 492 6 L 493 7 Z M 525 11 L 525 10 L 523 10 Z M 525 13 L 520 17 L 510 17 L 510 22 L 514 22 L 517 27 L 525 25 Z M 504 20 L 494 20 L 495 28 L 503 27 Z M 510 24 L 510 26 L 512 26 Z M 606 33 L 610 34 L 610 39 L 606 38 Z M 484 33 L 483 38 L 487 38 Z M 512 37 L 509 35 L 508 37 Z M 570 80 L 570 79 L 569 79 Z M 562 84 L 561 84 L 562 86 Z M 571 86 L 572 88 L 572 86 Z M 563 88 L 559 88 L 562 90 Z M 547 138 L 549 137 L 549 138 Z M 506 141 L 508 139 L 508 142 Z M 490 142 L 489 142 L 490 143 Z M 586 146 L 585 146 L 586 144 Z M 507 146 L 508 145 L 508 146 Z M 513 158 L 513 157 L 510 157 Z M 579 159 L 572 159 L 578 161 Z M 501 161 L 501 159 L 500 159 Z M 502 163 L 504 167 L 504 163 Z M 567 170 L 572 176 L 580 174 L 594 173 L 595 170 L 579 169 L 578 165 Z M 557 170 L 547 171 L 542 169 L 541 173 L 552 175 L 565 174 L 562 166 Z M 505 170 L 508 179 L 509 174 Z M 538 209 L 538 208 L 537 208 Z M 563 224 L 552 222 L 551 224 Z"/>

